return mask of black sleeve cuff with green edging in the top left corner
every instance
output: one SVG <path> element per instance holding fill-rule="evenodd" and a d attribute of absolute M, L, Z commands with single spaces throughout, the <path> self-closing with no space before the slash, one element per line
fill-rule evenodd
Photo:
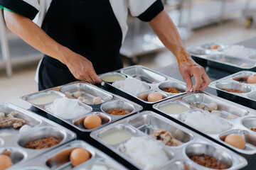
<path fill-rule="evenodd" d="M 0 0 L 0 8 L 26 16 L 33 20 L 40 9 L 38 0 Z"/>

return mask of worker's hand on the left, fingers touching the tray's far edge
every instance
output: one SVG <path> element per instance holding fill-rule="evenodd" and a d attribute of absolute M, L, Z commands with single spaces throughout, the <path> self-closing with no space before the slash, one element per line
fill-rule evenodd
<path fill-rule="evenodd" d="M 97 77 L 95 69 L 93 69 L 92 62 L 81 55 L 76 54 L 65 64 L 76 79 L 87 81 L 90 84 L 102 82 L 102 80 Z"/>

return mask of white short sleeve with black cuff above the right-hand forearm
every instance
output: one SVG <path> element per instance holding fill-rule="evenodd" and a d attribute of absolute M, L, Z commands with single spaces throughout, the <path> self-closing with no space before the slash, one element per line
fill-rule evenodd
<path fill-rule="evenodd" d="M 129 0 L 128 8 L 132 16 L 148 22 L 164 10 L 164 4 L 161 0 Z"/>

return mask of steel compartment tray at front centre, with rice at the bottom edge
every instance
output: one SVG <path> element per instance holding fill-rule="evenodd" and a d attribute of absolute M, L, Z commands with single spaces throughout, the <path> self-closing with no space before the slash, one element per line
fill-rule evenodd
<path fill-rule="evenodd" d="M 150 136 L 157 135 L 155 130 L 170 132 L 178 146 L 155 140 Z M 190 159 L 203 154 L 215 157 L 226 169 L 240 169 L 247 164 L 238 154 L 152 111 L 119 120 L 91 132 L 90 136 L 138 169 L 208 169 Z"/>

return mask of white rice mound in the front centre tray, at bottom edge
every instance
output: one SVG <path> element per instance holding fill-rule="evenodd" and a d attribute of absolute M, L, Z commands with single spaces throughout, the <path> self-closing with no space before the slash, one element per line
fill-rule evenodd
<path fill-rule="evenodd" d="M 146 140 L 144 137 L 131 137 L 119 149 L 143 169 L 156 169 L 169 161 L 164 148 L 158 142 Z"/>

